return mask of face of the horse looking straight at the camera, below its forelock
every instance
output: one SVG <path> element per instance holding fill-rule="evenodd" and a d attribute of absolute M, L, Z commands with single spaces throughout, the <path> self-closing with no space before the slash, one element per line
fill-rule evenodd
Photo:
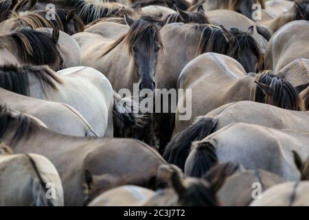
<path fill-rule="evenodd" d="M 139 90 L 154 90 L 155 72 L 158 63 L 160 45 L 158 42 L 147 45 L 146 42 L 137 42 L 132 47 L 135 70 L 139 77 Z"/>

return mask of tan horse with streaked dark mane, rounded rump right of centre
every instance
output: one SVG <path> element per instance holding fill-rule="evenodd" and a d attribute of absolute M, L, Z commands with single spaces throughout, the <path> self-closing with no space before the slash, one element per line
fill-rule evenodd
<path fill-rule="evenodd" d="M 179 96 L 174 133 L 187 128 L 196 116 L 229 102 L 253 100 L 295 111 L 304 109 L 301 98 L 288 81 L 269 71 L 246 74 L 240 63 L 221 54 L 196 57 L 183 68 L 178 85 L 179 89 L 191 89 L 191 93 Z M 179 111 L 187 103 L 192 103 L 194 108 L 190 112 Z M 190 118 L 181 119 L 188 113 Z"/>

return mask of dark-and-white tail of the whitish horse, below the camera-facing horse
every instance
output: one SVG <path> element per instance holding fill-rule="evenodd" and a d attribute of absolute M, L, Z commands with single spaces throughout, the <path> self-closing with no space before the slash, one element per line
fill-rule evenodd
<path fill-rule="evenodd" d="M 113 114 L 123 122 L 126 126 L 135 126 L 139 122 L 136 107 L 138 103 L 132 98 L 122 98 L 115 91 L 113 91 L 114 105 Z"/>

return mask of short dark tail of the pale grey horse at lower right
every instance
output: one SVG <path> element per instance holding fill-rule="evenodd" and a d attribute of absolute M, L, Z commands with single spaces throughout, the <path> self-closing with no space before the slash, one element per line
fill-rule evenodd
<path fill-rule="evenodd" d="M 190 177 L 202 177 L 210 168 L 218 163 L 215 142 L 206 140 L 194 142 L 194 157 L 192 157 L 192 166 L 186 170 L 185 175 Z"/>

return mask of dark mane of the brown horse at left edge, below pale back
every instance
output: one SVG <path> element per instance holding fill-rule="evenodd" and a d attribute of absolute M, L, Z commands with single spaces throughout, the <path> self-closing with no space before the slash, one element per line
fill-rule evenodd
<path fill-rule="evenodd" d="M 5 106 L 0 105 L 0 139 L 3 138 L 3 135 L 5 135 L 12 122 L 16 122 L 16 127 L 14 127 L 12 139 L 8 143 L 10 146 L 14 146 L 22 138 L 29 138 L 36 129 L 41 128 L 31 118 L 23 114 L 13 115 Z"/>

